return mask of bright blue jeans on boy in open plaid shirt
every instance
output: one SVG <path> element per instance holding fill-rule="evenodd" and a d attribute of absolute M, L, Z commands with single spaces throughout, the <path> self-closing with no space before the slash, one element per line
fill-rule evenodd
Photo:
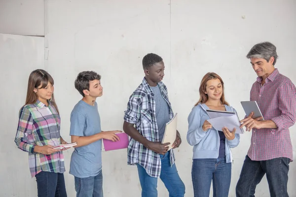
<path fill-rule="evenodd" d="M 170 151 L 165 155 L 160 155 L 160 159 L 160 179 L 169 191 L 169 197 L 184 197 L 185 185 L 178 174 L 176 164 L 171 167 Z M 141 165 L 137 164 L 137 166 L 142 187 L 142 197 L 157 197 L 157 178 L 149 176 Z"/>

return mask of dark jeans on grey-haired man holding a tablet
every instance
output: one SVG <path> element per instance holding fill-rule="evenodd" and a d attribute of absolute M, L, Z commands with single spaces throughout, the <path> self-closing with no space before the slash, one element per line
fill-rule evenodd
<path fill-rule="evenodd" d="M 266 173 L 270 197 L 289 197 L 287 185 L 290 161 L 285 157 L 252 161 L 247 155 L 236 185 L 236 196 L 255 197 L 256 186 Z"/>

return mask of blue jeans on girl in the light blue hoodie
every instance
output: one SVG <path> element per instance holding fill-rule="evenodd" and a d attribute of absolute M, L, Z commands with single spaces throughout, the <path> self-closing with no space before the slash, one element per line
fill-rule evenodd
<path fill-rule="evenodd" d="M 225 158 L 193 159 L 191 175 L 194 197 L 209 197 L 212 180 L 213 197 L 228 197 L 231 163 Z"/>

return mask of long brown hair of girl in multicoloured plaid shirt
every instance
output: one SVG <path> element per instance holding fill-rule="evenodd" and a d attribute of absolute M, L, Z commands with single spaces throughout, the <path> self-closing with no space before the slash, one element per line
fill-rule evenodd
<path fill-rule="evenodd" d="M 37 94 L 34 93 L 34 88 L 37 89 L 40 85 L 41 85 L 41 88 L 45 88 L 48 82 L 50 82 L 51 85 L 54 84 L 53 78 L 48 72 L 42 69 L 37 69 L 32 71 L 29 76 L 27 98 L 26 98 L 25 105 L 34 104 L 38 99 Z M 57 112 L 59 113 L 58 106 L 55 103 L 53 94 L 49 101 L 50 101 L 50 104 L 52 104 L 56 108 Z"/>

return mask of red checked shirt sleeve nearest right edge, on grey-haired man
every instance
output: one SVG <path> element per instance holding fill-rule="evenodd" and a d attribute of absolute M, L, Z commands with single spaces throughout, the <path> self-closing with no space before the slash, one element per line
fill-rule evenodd
<path fill-rule="evenodd" d="M 279 89 L 278 108 L 281 115 L 271 119 L 278 127 L 277 130 L 293 126 L 296 121 L 296 88 L 292 82 L 283 83 Z"/>

